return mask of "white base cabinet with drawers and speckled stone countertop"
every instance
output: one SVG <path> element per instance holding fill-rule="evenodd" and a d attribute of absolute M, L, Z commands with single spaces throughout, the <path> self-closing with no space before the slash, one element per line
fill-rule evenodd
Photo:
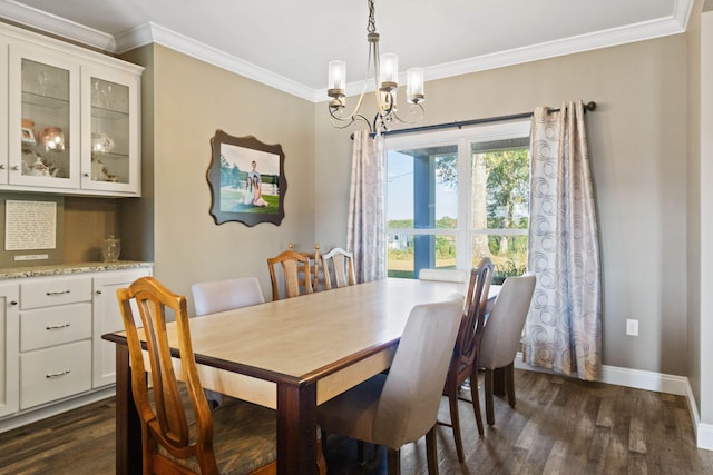
<path fill-rule="evenodd" d="M 0 280 L 0 431 L 110 388 L 115 346 L 101 335 L 124 329 L 116 289 L 152 273 L 146 265 Z"/>

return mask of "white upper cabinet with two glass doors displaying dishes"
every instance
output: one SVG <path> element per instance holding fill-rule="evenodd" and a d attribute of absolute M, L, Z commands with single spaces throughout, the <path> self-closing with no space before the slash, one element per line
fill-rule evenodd
<path fill-rule="evenodd" d="M 10 26 L 0 47 L 0 190 L 140 196 L 143 68 Z"/>

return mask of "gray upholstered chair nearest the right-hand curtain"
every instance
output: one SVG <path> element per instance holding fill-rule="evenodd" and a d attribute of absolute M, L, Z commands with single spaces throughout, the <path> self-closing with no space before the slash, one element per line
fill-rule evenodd
<path fill-rule="evenodd" d="M 504 368 L 510 407 L 515 407 L 515 357 L 530 308 L 536 278 L 533 274 L 508 277 L 502 284 L 480 339 L 478 365 L 485 368 L 486 419 L 495 424 L 492 406 L 494 370 Z"/>

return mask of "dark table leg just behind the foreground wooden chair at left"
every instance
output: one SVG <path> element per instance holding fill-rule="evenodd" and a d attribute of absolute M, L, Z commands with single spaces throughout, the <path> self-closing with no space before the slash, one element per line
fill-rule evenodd
<path fill-rule="evenodd" d="M 141 473 L 141 426 L 131 393 L 129 349 L 116 345 L 116 473 Z"/>

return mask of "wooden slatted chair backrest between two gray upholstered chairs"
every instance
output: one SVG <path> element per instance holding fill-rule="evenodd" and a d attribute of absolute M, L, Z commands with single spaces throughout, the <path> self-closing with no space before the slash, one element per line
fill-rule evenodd
<path fill-rule="evenodd" d="M 475 363 L 485 326 L 492 274 L 494 265 L 488 257 L 484 257 L 478 263 L 478 267 L 473 267 L 470 270 L 462 320 L 456 339 L 456 349 L 453 350 L 451 370 L 456 374 L 469 374 L 467 368 Z"/>

